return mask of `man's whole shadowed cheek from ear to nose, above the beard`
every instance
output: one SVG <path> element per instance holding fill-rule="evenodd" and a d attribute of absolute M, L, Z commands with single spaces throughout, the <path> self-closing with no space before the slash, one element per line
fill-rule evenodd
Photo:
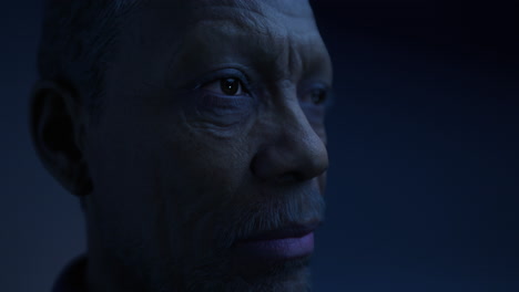
<path fill-rule="evenodd" d="M 90 137 L 99 226 L 122 246 L 145 246 L 163 255 L 193 255 L 195 243 L 206 244 L 196 250 L 214 250 L 213 223 L 240 201 L 248 179 L 246 132 L 214 136 L 182 114 L 132 115 L 113 115 L 106 122 L 111 128 Z"/>

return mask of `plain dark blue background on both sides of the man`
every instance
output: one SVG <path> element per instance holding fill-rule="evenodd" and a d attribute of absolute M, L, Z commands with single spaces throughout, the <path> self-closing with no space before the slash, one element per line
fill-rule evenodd
<path fill-rule="evenodd" d="M 313 1 L 335 64 L 315 290 L 519 291 L 519 23 L 505 1 Z M 0 291 L 84 251 L 30 143 L 40 1 L 0 9 Z"/>

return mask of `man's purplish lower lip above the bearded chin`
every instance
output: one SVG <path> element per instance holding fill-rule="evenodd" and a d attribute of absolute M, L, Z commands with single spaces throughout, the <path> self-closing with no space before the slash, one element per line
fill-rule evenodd
<path fill-rule="evenodd" d="M 289 260 L 309 255 L 314 251 L 314 232 L 301 238 L 283 238 L 238 242 L 236 253 L 247 259 Z"/>

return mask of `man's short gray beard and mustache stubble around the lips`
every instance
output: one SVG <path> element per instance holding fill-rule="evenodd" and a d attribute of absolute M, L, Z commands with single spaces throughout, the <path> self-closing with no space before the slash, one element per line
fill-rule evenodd
<path fill-rule="evenodd" d="M 225 209 L 218 213 L 207 212 L 207 218 L 221 218 L 222 222 L 214 226 L 217 230 L 215 233 L 221 237 L 215 240 L 213 251 L 206 252 L 205 257 L 192 247 L 184 246 L 185 242 L 174 236 L 163 241 L 165 246 L 160 247 L 159 251 L 164 252 L 147 254 L 145 259 L 139 251 L 155 251 L 157 248 L 147 247 L 142 239 L 138 240 L 138 244 L 125 243 L 124 249 L 121 249 L 122 243 L 116 242 L 120 244 L 114 244 L 113 250 L 119 253 L 121 250 L 128 251 L 118 258 L 129 270 L 135 271 L 134 275 L 140 278 L 136 282 L 143 283 L 147 292 L 311 292 L 308 258 L 282 262 L 268 271 L 256 274 L 251 272 L 252 274 L 247 275 L 244 274 L 244 270 L 250 269 L 234 267 L 230 254 L 236 237 L 251 234 L 253 230 L 268 230 L 283 222 L 303 221 L 303 216 L 322 218 L 325 204 L 320 196 L 307 196 L 306 199 L 302 199 L 301 194 L 285 198 L 285 202 L 251 202 L 250 205 L 254 206 L 252 211 L 251 208 L 234 208 L 243 211 L 228 212 Z M 170 219 L 163 221 L 175 221 L 176 218 Z M 203 219 L 199 218 L 199 221 Z M 228 222 L 245 223 L 228 225 Z M 182 226 L 195 225 L 187 222 Z M 179 233 L 187 234 L 189 230 L 181 230 Z M 164 257 L 170 250 L 176 250 L 179 253 L 174 258 Z"/>

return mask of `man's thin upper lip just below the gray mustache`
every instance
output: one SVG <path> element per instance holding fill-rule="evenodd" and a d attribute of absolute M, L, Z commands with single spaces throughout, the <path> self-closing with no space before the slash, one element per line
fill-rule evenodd
<path fill-rule="evenodd" d="M 320 221 L 315 220 L 306 223 L 289 223 L 285 227 L 262 231 L 255 233 L 251 237 L 246 237 L 241 239 L 240 241 L 260 241 L 260 240 L 273 240 L 273 239 L 284 239 L 284 238 L 301 238 L 313 232 L 318 226 Z"/>

